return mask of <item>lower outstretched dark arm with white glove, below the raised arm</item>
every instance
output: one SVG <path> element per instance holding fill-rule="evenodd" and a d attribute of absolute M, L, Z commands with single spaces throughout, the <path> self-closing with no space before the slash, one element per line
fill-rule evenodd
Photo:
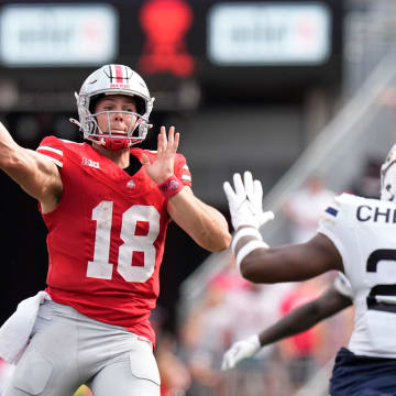
<path fill-rule="evenodd" d="M 332 285 L 317 299 L 293 310 L 260 334 L 233 343 L 224 353 L 221 369 L 232 369 L 241 360 L 253 356 L 263 346 L 306 331 L 351 305 L 352 300 Z"/>

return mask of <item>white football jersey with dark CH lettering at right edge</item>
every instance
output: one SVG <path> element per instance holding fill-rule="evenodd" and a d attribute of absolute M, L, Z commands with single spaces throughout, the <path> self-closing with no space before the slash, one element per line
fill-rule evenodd
<path fill-rule="evenodd" d="M 340 252 L 355 307 L 349 349 L 396 359 L 396 205 L 349 194 L 337 197 L 319 232 Z"/>

